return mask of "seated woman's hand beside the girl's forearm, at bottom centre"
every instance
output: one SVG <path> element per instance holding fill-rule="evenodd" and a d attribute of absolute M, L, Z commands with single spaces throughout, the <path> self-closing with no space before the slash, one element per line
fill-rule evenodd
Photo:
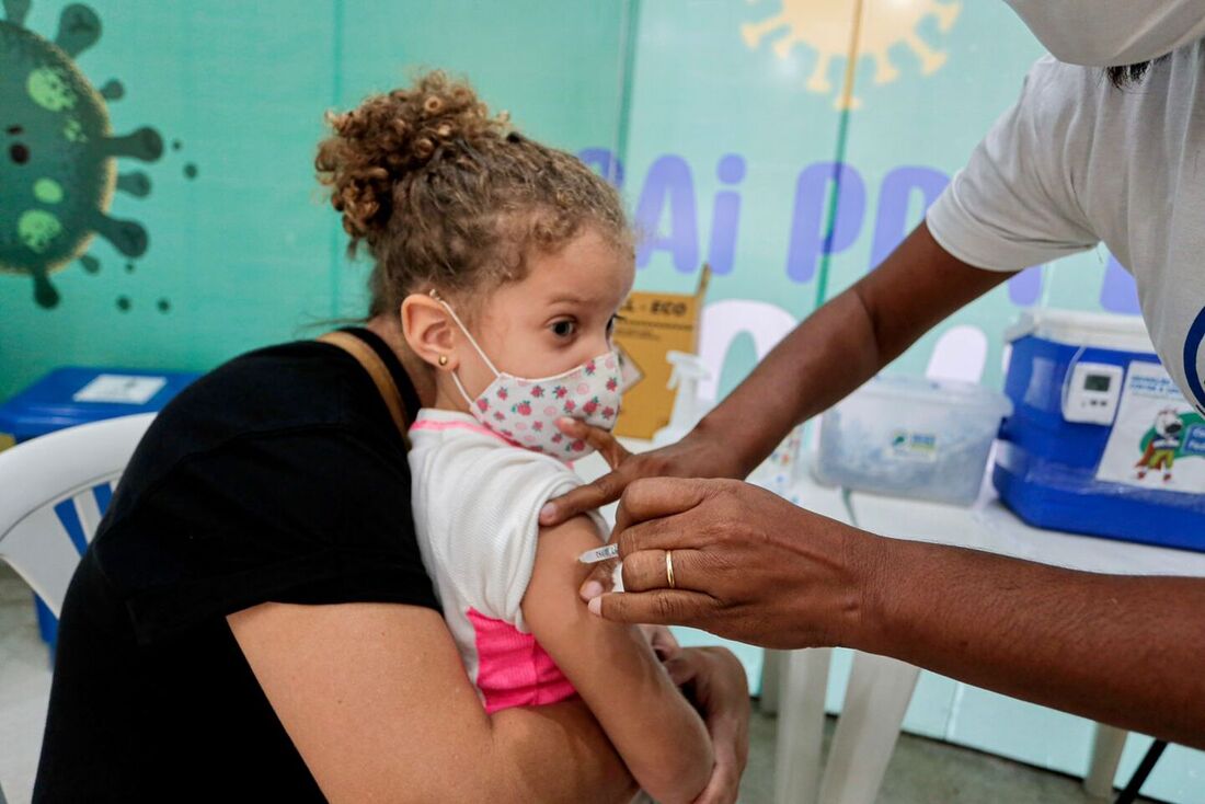
<path fill-rule="evenodd" d="M 695 804 L 731 804 L 750 753 L 750 691 L 745 668 L 723 647 L 688 647 L 665 662 L 684 687 L 711 735 L 716 765 Z"/>

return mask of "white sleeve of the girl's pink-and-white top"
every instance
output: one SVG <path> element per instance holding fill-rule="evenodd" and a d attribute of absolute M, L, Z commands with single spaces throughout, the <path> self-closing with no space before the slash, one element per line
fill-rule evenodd
<path fill-rule="evenodd" d="M 554 458 L 528 450 L 486 448 L 462 453 L 455 479 L 442 495 L 448 527 L 433 544 L 462 603 L 527 633 L 522 603 L 535 568 L 540 509 L 582 485 Z M 448 466 L 449 468 L 449 466 Z M 592 517 L 604 533 L 602 520 Z"/>

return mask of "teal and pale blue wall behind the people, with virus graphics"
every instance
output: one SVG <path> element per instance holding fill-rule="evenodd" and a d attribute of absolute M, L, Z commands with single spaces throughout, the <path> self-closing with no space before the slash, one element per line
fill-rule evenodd
<path fill-rule="evenodd" d="M 1028 65 L 1040 54 L 1003 2 L 964 1 L 957 19 L 942 30 L 942 8 L 958 4 L 865 1 L 869 14 L 889 17 L 890 8 L 900 6 L 933 13 L 916 25 L 890 28 L 883 52 L 898 77 L 887 83 L 875 82 L 878 63 L 871 40 L 877 34 L 866 31 L 856 72 L 862 106 L 847 117 L 848 172 L 837 207 L 829 297 L 862 276 L 893 233 L 921 219 L 923 193 L 893 195 L 892 187 L 898 189 L 901 177 L 952 175 L 1015 100 Z M 35 0 L 28 28 L 53 37 L 65 5 Z M 840 29 L 840 16 L 853 4 L 89 5 L 102 31 L 78 57 L 78 68 L 95 86 L 113 77 L 124 84 L 124 98 L 107 105 L 116 133 L 152 127 L 166 143 L 163 157 L 149 165 L 124 158 L 117 163 L 120 172 L 141 170 L 152 182 L 146 198 L 118 193 L 110 209 L 117 218 L 140 222 L 149 247 L 129 260 L 95 239 L 88 253 L 99 260 L 99 272 L 75 263 L 54 274 L 61 301 L 49 310 L 34 303 L 29 277 L 0 272 L 0 399 L 64 363 L 202 370 L 254 346 L 312 335 L 322 321 L 360 315 L 366 266 L 345 260 L 339 222 L 313 177 L 322 113 L 402 83 L 418 66 L 468 75 L 492 105 L 511 110 L 518 125 L 536 137 L 571 151 L 616 154 L 624 168 L 624 194 L 634 210 L 645 212 L 646 242 L 671 246 L 648 251 L 639 287 L 688 291 L 698 263 L 718 254 L 713 262 L 722 270 L 709 301 L 765 305 L 746 307 L 758 315 L 734 322 L 740 327 L 764 325 L 774 311 L 789 323 L 815 306 L 819 256 L 788 268 L 797 181 L 804 171 L 823 172 L 822 163 L 837 153 L 840 113 L 834 100 L 846 42 L 824 31 Z M 746 43 L 742 27 L 771 18 L 783 6 L 799 10 L 805 24 L 795 33 L 804 41 L 783 58 L 775 54 L 774 42 L 786 30 L 757 47 Z M 925 75 L 906 41 L 912 35 L 944 53 L 945 64 Z M 834 89 L 813 92 L 807 80 L 825 48 L 837 53 L 828 72 Z M 0 93 L 5 68 L 0 65 Z M 0 102 L 0 117 L 4 108 Z M 177 141 L 178 149 L 172 147 Z M 722 164 L 727 180 L 719 176 Z M 186 174 L 188 165 L 195 166 L 195 177 Z M 736 165 L 743 165 L 742 177 L 735 177 Z M 677 178 L 658 184 L 649 178 L 654 166 L 677 171 Z M 659 203 L 658 187 L 677 194 Z M 804 193 L 803 205 L 823 212 L 823 189 L 822 182 Z M 0 186 L 0 215 L 11 207 L 13 192 Z M 890 221 L 897 225 L 887 225 Z M 5 222 L 0 217 L 0 225 Z M 828 223 L 823 215 L 812 219 L 812 234 Z M 718 252 L 712 241 L 719 243 Z M 723 257 L 729 241 L 731 260 Z M 1133 311 L 1125 280 L 1112 274 L 1106 282 L 1106 259 L 1103 252 L 1080 256 L 1047 269 L 1039 282 L 1029 275 L 997 291 L 939 327 L 895 368 L 923 371 L 945 331 L 970 325 L 988 338 L 983 380 L 998 383 L 999 333 L 1019 309 L 1048 304 Z M 721 392 L 756 358 L 748 338 L 724 344 L 730 348 Z M 756 667 L 757 652 L 750 651 L 748 658 Z M 841 673 L 834 674 L 834 705 L 842 680 Z M 1087 757 L 1082 721 L 928 674 L 909 727 L 1058 770 L 1082 771 Z M 1140 747 L 1131 741 L 1123 770 L 1136 762 Z M 1198 752 L 1175 750 L 1147 791 L 1189 800 L 1199 797 L 1205 761 Z"/>

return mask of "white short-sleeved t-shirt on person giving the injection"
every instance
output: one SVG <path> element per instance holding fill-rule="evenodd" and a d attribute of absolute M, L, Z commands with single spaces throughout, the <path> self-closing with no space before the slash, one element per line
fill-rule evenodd
<path fill-rule="evenodd" d="M 1138 283 L 1159 358 L 1205 413 L 1205 48 L 1116 89 L 1040 59 L 1021 99 L 929 209 L 958 259 L 1019 270 L 1104 242 Z"/>

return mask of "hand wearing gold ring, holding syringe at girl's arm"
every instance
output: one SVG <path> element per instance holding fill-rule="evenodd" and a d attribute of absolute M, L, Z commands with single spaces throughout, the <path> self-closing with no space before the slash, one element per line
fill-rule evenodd
<path fill-rule="evenodd" d="M 625 592 L 589 604 L 606 620 L 693 626 L 766 647 L 848 645 L 875 588 L 875 536 L 740 481 L 639 480 L 615 534 Z"/>

